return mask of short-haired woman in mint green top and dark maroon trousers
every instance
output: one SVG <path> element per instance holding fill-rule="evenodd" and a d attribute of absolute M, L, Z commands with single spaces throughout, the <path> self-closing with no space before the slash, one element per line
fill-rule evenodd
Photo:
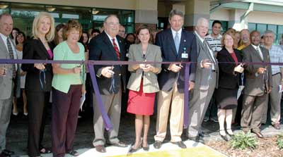
<path fill-rule="evenodd" d="M 84 61 L 84 47 L 79 43 L 82 33 L 77 20 L 69 20 L 64 27 L 65 41 L 54 49 L 54 60 Z M 81 94 L 84 86 L 84 65 L 53 64 L 52 80 L 52 153 L 54 157 L 69 153 L 79 156 L 74 151 L 74 136 L 78 121 Z"/>

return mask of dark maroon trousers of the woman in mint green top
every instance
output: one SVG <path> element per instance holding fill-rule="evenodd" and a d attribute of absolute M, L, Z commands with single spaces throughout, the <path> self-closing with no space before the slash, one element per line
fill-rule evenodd
<path fill-rule="evenodd" d="M 52 153 L 54 157 L 64 156 L 73 149 L 81 84 L 71 85 L 67 94 L 53 89 L 52 98 Z"/>

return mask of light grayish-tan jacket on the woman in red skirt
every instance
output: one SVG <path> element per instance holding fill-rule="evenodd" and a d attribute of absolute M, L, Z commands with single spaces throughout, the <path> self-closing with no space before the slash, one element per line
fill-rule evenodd
<path fill-rule="evenodd" d="M 141 44 L 132 44 L 129 46 L 129 61 L 156 61 L 161 62 L 161 49 L 159 46 L 149 44 L 147 47 L 146 55 L 143 56 Z M 158 68 L 158 72 L 161 71 L 161 64 L 155 63 L 153 65 Z M 137 70 L 133 69 L 133 65 L 129 65 L 128 70 L 131 72 L 129 77 L 129 82 L 127 88 L 133 91 L 139 92 L 139 87 L 141 84 L 141 77 L 143 76 L 143 92 L 144 93 L 154 93 L 159 91 L 157 75 L 151 71 L 144 72 L 141 68 Z"/>

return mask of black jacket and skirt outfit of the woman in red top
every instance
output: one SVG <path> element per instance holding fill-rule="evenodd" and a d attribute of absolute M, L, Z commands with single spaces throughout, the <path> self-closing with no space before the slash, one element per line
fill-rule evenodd
<path fill-rule="evenodd" d="M 233 56 L 232 56 L 233 55 Z M 240 73 L 233 73 L 238 62 L 242 61 L 241 52 L 234 49 L 234 54 L 229 54 L 223 48 L 217 54 L 219 61 L 219 87 L 216 89 L 216 104 L 220 109 L 233 109 L 238 105 L 237 92 Z"/>

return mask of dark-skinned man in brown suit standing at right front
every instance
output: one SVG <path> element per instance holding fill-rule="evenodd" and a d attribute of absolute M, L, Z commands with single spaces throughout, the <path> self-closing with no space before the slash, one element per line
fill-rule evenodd
<path fill-rule="evenodd" d="M 260 122 L 272 87 L 272 70 L 270 65 L 253 64 L 270 63 L 268 50 L 260 46 L 260 32 L 251 32 L 250 40 L 251 44 L 242 50 L 243 60 L 247 64 L 241 127 L 243 132 L 251 130 L 258 137 L 263 138 L 260 132 Z"/>

